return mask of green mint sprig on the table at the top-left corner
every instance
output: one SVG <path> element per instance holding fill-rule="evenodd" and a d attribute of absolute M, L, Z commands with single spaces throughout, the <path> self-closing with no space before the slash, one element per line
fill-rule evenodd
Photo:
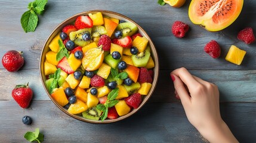
<path fill-rule="evenodd" d="M 35 0 L 28 5 L 28 11 L 22 14 L 20 18 L 21 26 L 24 32 L 34 32 L 38 25 L 38 14 L 44 13 L 44 7 L 48 0 Z"/>

